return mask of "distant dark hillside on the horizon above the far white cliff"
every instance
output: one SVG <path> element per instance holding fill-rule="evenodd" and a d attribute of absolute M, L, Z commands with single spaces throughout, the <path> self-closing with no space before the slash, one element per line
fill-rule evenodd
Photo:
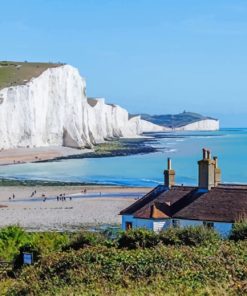
<path fill-rule="evenodd" d="M 158 125 L 163 125 L 170 128 L 181 127 L 199 120 L 214 119 L 206 117 L 198 113 L 186 112 L 179 114 L 166 114 L 166 115 L 149 115 L 141 114 L 142 119 L 151 121 Z"/>

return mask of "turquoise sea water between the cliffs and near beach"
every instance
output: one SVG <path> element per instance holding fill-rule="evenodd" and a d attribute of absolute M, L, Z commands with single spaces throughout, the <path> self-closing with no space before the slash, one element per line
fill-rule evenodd
<path fill-rule="evenodd" d="M 163 182 L 167 157 L 172 159 L 176 183 L 196 185 L 202 148 L 219 157 L 222 181 L 247 183 L 247 129 L 159 134 L 160 151 L 123 157 L 68 159 L 0 167 L 0 177 L 76 181 L 113 185 L 156 186 Z"/>

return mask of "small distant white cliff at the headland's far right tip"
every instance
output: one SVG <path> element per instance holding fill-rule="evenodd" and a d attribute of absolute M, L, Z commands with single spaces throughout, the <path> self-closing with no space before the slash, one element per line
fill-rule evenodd
<path fill-rule="evenodd" d="M 178 128 L 176 131 L 216 131 L 219 129 L 219 120 L 205 119 L 196 121 Z"/>

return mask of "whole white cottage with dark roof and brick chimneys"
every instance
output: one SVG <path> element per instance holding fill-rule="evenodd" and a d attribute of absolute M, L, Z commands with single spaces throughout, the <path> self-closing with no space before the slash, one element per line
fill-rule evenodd
<path fill-rule="evenodd" d="M 164 185 L 122 210 L 122 229 L 148 228 L 156 232 L 170 226 L 205 225 L 226 236 L 232 224 L 247 215 L 247 185 L 220 184 L 218 159 L 203 149 L 198 161 L 197 187 L 175 185 L 175 171 L 164 171 Z"/>

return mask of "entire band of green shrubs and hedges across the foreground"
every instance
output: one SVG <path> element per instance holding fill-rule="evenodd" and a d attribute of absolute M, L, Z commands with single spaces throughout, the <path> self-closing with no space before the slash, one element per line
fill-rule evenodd
<path fill-rule="evenodd" d="M 7 250 L 17 261 L 23 248 L 37 254 L 34 265 L 1 274 L 1 295 L 247 294 L 246 236 L 223 240 L 211 229 L 190 227 L 132 230 L 109 240 L 99 233 L 8 227 L 0 241 L 2 257 Z"/>

